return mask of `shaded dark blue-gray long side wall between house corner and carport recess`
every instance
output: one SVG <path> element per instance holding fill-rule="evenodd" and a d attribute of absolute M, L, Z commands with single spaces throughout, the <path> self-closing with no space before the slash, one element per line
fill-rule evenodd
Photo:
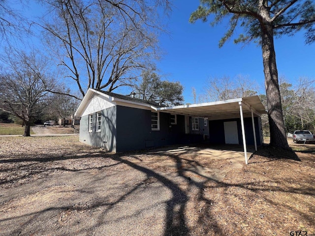
<path fill-rule="evenodd" d="M 159 130 L 151 129 L 151 111 L 117 106 L 117 151 L 161 147 L 180 143 L 185 135 L 184 116 L 170 123 L 170 114 L 159 113 Z"/>

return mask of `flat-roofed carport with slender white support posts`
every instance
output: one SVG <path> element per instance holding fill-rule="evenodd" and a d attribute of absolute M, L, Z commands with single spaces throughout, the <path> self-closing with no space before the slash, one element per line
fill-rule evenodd
<path fill-rule="evenodd" d="M 247 144 L 246 144 L 244 118 L 252 118 L 254 147 L 255 147 L 255 150 L 257 150 L 254 117 L 260 118 L 262 114 L 266 114 L 265 107 L 261 103 L 258 96 L 229 99 L 229 100 L 217 101 L 217 102 L 207 102 L 207 103 L 199 103 L 199 104 L 191 104 L 191 105 L 174 106 L 174 107 L 161 107 L 161 108 L 158 108 L 157 111 L 184 115 L 188 117 L 207 118 L 208 120 L 224 120 L 224 119 L 231 119 L 231 118 L 240 118 L 244 157 L 245 157 L 246 164 L 248 164 L 248 157 L 247 157 Z M 262 136 L 262 133 L 260 135 Z"/>

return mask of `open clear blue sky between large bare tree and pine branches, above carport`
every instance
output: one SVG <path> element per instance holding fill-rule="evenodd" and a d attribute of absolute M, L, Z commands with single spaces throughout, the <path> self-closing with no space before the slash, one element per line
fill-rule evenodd
<path fill-rule="evenodd" d="M 175 0 L 169 18 L 169 35 L 160 38 L 166 55 L 158 62 L 161 74 L 169 74 L 170 81 L 184 85 L 185 102 L 192 103 L 191 87 L 202 93 L 209 77 L 247 76 L 261 86 L 264 93 L 264 73 L 261 47 L 255 43 L 242 47 L 230 40 L 222 48 L 219 40 L 226 31 L 225 25 L 211 27 L 210 23 L 189 23 L 189 16 L 199 0 Z M 275 40 L 279 76 L 295 84 L 299 77 L 315 79 L 315 43 L 305 45 L 303 33 Z"/>

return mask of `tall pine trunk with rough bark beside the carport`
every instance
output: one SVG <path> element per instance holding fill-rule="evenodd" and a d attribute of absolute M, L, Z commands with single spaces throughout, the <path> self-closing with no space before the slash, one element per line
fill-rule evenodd
<path fill-rule="evenodd" d="M 261 48 L 270 127 L 270 145 L 290 149 L 285 136 L 272 25 L 267 23 L 261 24 L 261 32 Z"/>

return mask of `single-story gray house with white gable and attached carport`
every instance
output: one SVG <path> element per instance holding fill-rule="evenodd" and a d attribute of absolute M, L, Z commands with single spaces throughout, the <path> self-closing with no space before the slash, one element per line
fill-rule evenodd
<path fill-rule="evenodd" d="M 88 89 L 75 116 L 81 142 L 113 152 L 173 144 L 262 144 L 258 96 L 167 107 Z M 247 162 L 247 157 L 246 157 Z"/>

